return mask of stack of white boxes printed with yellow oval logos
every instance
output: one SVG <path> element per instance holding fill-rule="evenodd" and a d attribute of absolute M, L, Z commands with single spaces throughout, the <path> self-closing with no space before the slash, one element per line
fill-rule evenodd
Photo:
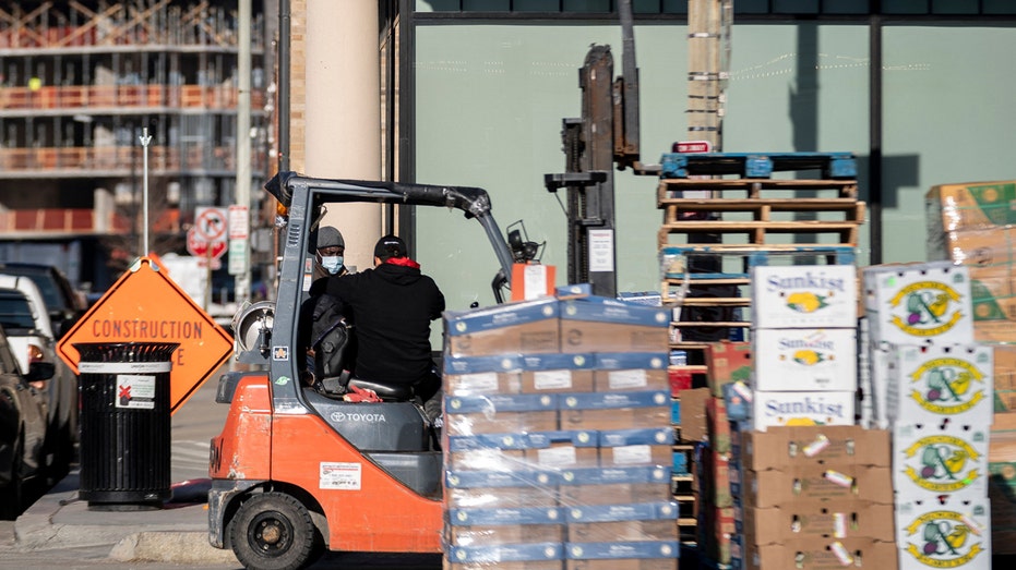
<path fill-rule="evenodd" d="M 990 568 L 992 351 L 973 342 L 970 280 L 948 262 L 863 271 L 878 420 L 893 434 L 899 566 Z"/>

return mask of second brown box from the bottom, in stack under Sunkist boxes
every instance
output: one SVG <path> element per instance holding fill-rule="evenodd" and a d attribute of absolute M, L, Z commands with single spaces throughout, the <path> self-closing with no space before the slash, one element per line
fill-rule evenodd
<path fill-rule="evenodd" d="M 794 538 L 874 538 L 893 542 L 893 504 L 866 500 L 800 500 L 766 509 L 736 509 L 734 525 L 754 544 L 782 544 Z"/>

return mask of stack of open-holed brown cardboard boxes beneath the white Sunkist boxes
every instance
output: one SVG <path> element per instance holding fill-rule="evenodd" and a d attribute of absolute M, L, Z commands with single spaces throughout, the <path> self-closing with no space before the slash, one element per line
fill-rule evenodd
<path fill-rule="evenodd" d="M 736 568 L 896 568 L 887 432 L 744 429 L 733 448 Z"/>

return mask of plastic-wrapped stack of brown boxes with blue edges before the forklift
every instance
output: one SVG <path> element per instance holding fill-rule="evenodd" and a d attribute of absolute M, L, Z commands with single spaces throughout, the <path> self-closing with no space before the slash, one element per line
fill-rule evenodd
<path fill-rule="evenodd" d="M 445 566 L 674 570 L 669 312 L 445 313 Z"/>

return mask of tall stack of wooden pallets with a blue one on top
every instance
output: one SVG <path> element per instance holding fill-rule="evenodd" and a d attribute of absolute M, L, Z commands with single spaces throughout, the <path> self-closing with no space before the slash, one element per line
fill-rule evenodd
<path fill-rule="evenodd" d="M 801 178 L 816 171 L 815 178 Z M 777 172 L 798 178 L 773 178 Z M 669 372 L 682 419 L 705 417 L 704 410 L 693 409 L 697 404 L 691 392 L 684 402 L 681 391 L 709 384 L 710 349 L 720 341 L 745 339 L 752 267 L 856 262 L 865 215 L 856 179 L 856 159 L 845 153 L 664 155 L 657 191 L 657 206 L 664 211 L 658 233 L 661 300 L 673 312 Z M 682 445 L 702 446 L 708 439 L 684 434 L 683 428 L 676 434 Z M 707 449 L 693 457 L 722 453 L 726 450 Z M 701 466 L 689 464 L 689 472 L 701 472 Z M 674 474 L 674 499 L 682 512 L 721 514 L 721 507 L 729 507 L 716 500 L 701 505 L 702 489 L 692 484 L 689 493 L 686 485 Z M 703 524 L 719 529 L 721 521 L 705 519 Z M 685 543 L 696 534 L 688 526 L 681 531 Z M 704 533 L 697 535 L 702 543 Z M 729 560 L 719 551 L 702 554 L 715 562 Z"/>

